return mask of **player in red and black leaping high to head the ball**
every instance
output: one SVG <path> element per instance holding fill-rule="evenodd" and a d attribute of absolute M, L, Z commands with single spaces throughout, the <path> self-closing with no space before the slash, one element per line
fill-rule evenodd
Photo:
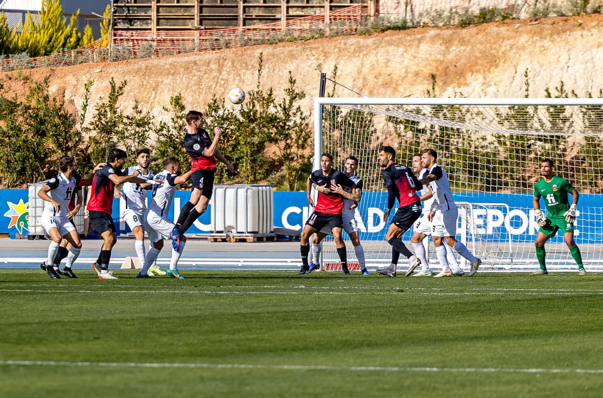
<path fill-rule="evenodd" d="M 222 129 L 213 129 L 213 141 L 209 133 L 203 128 L 203 113 L 191 110 L 186 114 L 188 132 L 185 135 L 185 150 L 191 156 L 191 200 L 185 203 L 180 210 L 176 227 L 171 233 L 172 241 L 178 244 L 179 236 L 185 233 L 207 210 L 207 204 L 212 198 L 213 177 L 216 171 L 216 158 L 226 165 L 229 172 L 235 168 L 226 160 L 218 150 L 218 141 Z"/>

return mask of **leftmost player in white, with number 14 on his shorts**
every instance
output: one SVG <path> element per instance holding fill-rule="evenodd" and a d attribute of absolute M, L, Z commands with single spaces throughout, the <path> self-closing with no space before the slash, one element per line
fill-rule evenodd
<path fill-rule="evenodd" d="M 46 233 L 52 239 L 52 242 L 48 245 L 48 258 L 42 269 L 45 268 L 46 273 L 52 279 L 60 279 L 60 275 L 57 273 L 58 264 L 53 264 L 53 262 L 63 238 L 71 244 L 71 250 L 67 255 L 67 264 L 63 268 L 63 275 L 77 278 L 71 271 L 71 267 L 80 255 L 81 241 L 74 224 L 67 218 L 69 202 L 78 186 L 90 185 L 92 176 L 101 166 L 104 166 L 104 163 L 96 166 L 87 180 L 76 179 L 74 177 L 74 172 L 77 170 L 75 159 L 71 156 L 63 156 L 58 160 L 58 168 L 61 174 L 48 180 L 46 185 L 38 191 L 37 195 L 45 201 L 40 221 Z"/>

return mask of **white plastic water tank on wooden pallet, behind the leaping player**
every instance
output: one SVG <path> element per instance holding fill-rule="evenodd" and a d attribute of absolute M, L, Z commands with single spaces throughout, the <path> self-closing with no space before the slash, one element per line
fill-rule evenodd
<path fill-rule="evenodd" d="M 260 235 L 274 232 L 274 185 L 214 185 L 212 233 Z"/>

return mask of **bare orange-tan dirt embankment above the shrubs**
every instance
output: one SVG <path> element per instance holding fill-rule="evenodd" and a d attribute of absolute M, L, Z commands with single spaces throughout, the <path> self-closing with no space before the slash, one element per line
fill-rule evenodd
<path fill-rule="evenodd" d="M 563 80 L 579 95 L 603 87 L 603 16 L 506 21 L 469 28 L 420 28 L 371 36 L 346 36 L 125 62 L 24 71 L 32 80 L 49 77 L 51 92 L 78 110 L 84 83 L 95 80 L 93 107 L 106 96 L 111 77 L 127 80 L 122 106 L 139 101 L 154 116 L 178 92 L 191 109 L 202 108 L 215 93 L 256 84 L 257 57 L 264 53 L 262 86 L 282 93 L 288 71 L 308 97 L 318 93 L 319 72 L 339 69 L 338 80 L 368 96 L 423 96 L 436 74 L 438 96 L 523 96 L 523 71 L 529 69 L 531 96 Z M 22 75 L 23 76 L 23 75 Z M 9 78 L 10 77 L 10 78 Z M 17 72 L 0 77 L 4 96 L 22 96 L 28 81 Z M 327 87 L 329 89 L 329 87 Z M 353 95 L 339 87 L 338 96 Z"/>

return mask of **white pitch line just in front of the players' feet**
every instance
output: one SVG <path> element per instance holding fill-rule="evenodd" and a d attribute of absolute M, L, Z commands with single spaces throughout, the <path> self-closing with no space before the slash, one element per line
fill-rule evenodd
<path fill-rule="evenodd" d="M 110 286 L 110 285 L 109 285 Z M 115 286 L 115 285 L 113 285 Z M 386 295 L 386 292 L 379 292 L 379 289 L 374 289 L 377 291 L 377 294 Z M 575 294 L 575 292 L 452 292 L 452 293 L 442 293 L 442 292 L 412 292 L 411 289 L 392 289 L 393 293 L 402 293 L 402 294 L 411 294 L 411 295 L 570 295 Z M 275 292 L 275 291 L 212 291 L 212 290 L 41 290 L 41 289 L 0 289 L 0 293 L 2 292 L 31 292 L 31 293 L 104 293 L 104 294 L 112 294 L 112 293 L 128 293 L 128 294 L 153 294 L 153 293 L 180 293 L 180 294 L 327 294 L 327 295 L 349 295 L 349 294 L 359 294 L 363 292 Z M 374 292 L 367 292 L 368 294 L 375 294 Z M 603 292 L 593 292 L 592 294 L 602 294 Z"/>

